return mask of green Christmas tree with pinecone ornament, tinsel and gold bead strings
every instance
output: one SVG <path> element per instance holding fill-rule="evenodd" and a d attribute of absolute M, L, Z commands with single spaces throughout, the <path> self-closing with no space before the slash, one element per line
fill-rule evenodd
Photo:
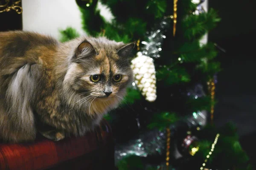
<path fill-rule="evenodd" d="M 250 169 L 236 127 L 214 126 L 218 50 L 202 38 L 220 21 L 204 0 L 76 0 L 86 34 L 136 41 L 134 83 L 105 119 L 119 170 Z M 113 14 L 106 20 L 99 3 Z M 61 30 L 61 41 L 80 35 Z M 178 155 L 178 156 L 177 156 Z M 158 166 L 157 166 L 158 165 Z"/>

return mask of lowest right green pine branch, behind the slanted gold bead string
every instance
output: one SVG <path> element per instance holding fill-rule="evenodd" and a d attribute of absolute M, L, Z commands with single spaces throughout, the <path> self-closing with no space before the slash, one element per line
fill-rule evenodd
<path fill-rule="evenodd" d="M 239 143 L 239 136 L 233 123 L 229 122 L 221 128 L 209 125 L 199 133 L 204 134 L 204 139 L 199 141 L 199 151 L 195 156 L 201 157 L 201 160 L 204 160 L 211 151 L 215 135 L 220 134 L 214 151 L 207 161 L 208 167 L 217 165 L 221 169 L 236 167 L 239 170 L 250 170 L 249 158 Z"/>

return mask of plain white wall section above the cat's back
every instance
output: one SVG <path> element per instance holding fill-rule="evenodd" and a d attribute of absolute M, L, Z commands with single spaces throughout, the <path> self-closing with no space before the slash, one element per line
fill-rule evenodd
<path fill-rule="evenodd" d="M 22 0 L 23 30 L 59 37 L 58 29 L 72 26 L 80 34 L 81 14 L 75 0 Z"/>

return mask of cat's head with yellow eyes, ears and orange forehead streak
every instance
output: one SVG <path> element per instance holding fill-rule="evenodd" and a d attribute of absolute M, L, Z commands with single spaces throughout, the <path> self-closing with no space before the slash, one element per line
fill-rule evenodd
<path fill-rule="evenodd" d="M 119 101 L 133 80 L 129 54 L 134 43 L 93 40 L 78 46 L 65 79 L 80 102 Z"/>

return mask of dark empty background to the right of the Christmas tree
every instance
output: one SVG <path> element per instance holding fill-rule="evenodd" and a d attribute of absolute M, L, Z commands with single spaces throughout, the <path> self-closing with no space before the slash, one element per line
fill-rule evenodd
<path fill-rule="evenodd" d="M 218 55 L 223 71 L 216 84 L 215 123 L 233 121 L 243 149 L 256 164 L 255 6 L 253 0 L 209 0 L 221 22 L 209 33 L 209 41 L 226 50 Z M 256 167 L 256 166 L 254 166 Z"/>

